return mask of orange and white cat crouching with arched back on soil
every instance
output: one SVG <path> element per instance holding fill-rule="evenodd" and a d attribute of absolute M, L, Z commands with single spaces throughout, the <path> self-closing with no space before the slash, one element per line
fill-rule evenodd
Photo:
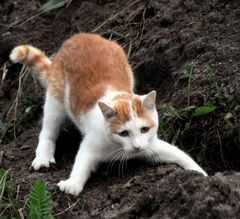
<path fill-rule="evenodd" d="M 32 167 L 55 163 L 55 142 L 66 116 L 84 136 L 70 177 L 58 183 L 61 191 L 77 196 L 101 162 L 135 157 L 176 163 L 207 176 L 185 152 L 158 138 L 156 92 L 134 93 L 132 69 L 116 42 L 79 33 L 52 60 L 30 45 L 15 47 L 10 59 L 26 64 L 46 88 Z"/>

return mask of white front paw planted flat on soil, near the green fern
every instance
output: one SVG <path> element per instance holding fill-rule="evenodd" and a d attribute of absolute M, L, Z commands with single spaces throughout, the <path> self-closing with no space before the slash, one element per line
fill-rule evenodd
<path fill-rule="evenodd" d="M 79 180 L 75 178 L 62 180 L 57 185 L 62 192 L 66 192 L 75 196 L 79 195 L 79 193 L 83 190 Z"/>

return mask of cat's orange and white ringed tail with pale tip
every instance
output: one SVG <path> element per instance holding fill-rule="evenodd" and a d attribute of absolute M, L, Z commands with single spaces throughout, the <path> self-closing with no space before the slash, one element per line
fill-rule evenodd
<path fill-rule="evenodd" d="M 30 45 L 20 45 L 12 50 L 10 59 L 14 63 L 27 65 L 36 73 L 41 84 L 47 86 L 51 74 L 51 60 L 44 52 Z"/>

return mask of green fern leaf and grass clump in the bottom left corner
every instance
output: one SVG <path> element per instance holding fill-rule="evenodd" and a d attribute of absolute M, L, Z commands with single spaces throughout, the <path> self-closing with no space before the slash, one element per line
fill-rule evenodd
<path fill-rule="evenodd" d="M 9 171 L 0 169 L 0 218 L 53 219 L 53 201 L 42 180 L 35 180 L 26 201 L 20 201 L 18 190 L 9 179 Z"/>

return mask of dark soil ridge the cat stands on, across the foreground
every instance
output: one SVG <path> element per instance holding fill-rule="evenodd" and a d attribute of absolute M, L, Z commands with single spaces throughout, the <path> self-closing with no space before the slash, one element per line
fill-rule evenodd
<path fill-rule="evenodd" d="M 55 200 L 56 218 L 225 219 L 240 215 L 240 174 L 237 172 L 204 177 L 175 165 L 156 167 L 134 160 L 123 169 L 120 163 L 113 167 L 102 165 L 77 198 L 59 193 L 56 183 L 68 176 L 77 147 L 62 133 L 61 142 L 65 142 L 65 147 L 70 143 L 70 149 L 58 150 L 56 165 L 35 172 L 29 166 L 34 157 L 31 145 L 37 143 L 38 132 L 29 130 L 4 146 L 3 167 L 12 168 L 13 180 L 21 185 L 22 196 L 28 192 L 33 179 L 45 179 Z"/>

